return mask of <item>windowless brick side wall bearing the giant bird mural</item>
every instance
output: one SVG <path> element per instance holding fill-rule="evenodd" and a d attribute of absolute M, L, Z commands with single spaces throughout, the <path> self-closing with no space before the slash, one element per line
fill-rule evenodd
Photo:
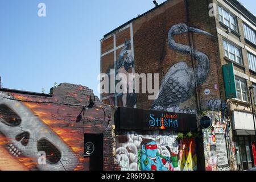
<path fill-rule="evenodd" d="M 217 32 L 209 26 L 214 23 L 208 2 L 175 0 L 106 34 L 101 40 L 101 73 L 109 73 L 109 68 L 124 74 L 157 73 L 159 92 L 155 100 L 148 99 L 148 92 L 136 97 L 102 94 L 102 100 L 116 106 L 175 113 L 220 110 Z M 139 80 L 139 85 L 144 82 Z M 155 84 L 152 82 L 153 87 Z"/>

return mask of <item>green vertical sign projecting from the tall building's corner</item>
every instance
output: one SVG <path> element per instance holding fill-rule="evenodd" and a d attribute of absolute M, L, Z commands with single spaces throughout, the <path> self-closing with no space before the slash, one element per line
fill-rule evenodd
<path fill-rule="evenodd" d="M 226 98 L 237 98 L 233 63 L 222 65 Z"/>

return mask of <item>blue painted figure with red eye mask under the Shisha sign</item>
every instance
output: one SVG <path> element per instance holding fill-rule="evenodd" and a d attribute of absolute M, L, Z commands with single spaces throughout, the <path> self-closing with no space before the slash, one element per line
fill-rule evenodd
<path fill-rule="evenodd" d="M 164 165 L 170 162 L 170 158 L 161 158 L 158 154 L 158 146 L 154 140 L 143 140 L 141 166 L 142 171 L 168 171 Z"/>

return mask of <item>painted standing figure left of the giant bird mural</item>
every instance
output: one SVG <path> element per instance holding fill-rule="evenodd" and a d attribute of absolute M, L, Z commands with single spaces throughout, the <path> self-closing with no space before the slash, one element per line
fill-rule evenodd
<path fill-rule="evenodd" d="M 117 60 L 117 74 L 123 73 L 126 75 L 127 80 L 121 80 L 122 85 L 127 85 L 127 92 L 129 91 L 129 88 L 133 88 L 133 81 L 129 81 L 129 69 L 134 67 L 134 58 L 131 53 L 131 41 L 125 40 L 125 46 L 119 53 L 119 57 Z M 136 97 L 135 92 L 134 93 L 123 93 L 122 94 L 122 103 L 123 107 L 134 107 L 136 104 Z"/>

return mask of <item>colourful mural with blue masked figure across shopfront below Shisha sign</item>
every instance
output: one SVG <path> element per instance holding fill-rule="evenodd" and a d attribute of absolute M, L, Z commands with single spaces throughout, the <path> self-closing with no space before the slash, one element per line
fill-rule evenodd
<path fill-rule="evenodd" d="M 122 171 L 195 171 L 195 139 L 177 134 L 117 136 L 116 162 Z"/>

